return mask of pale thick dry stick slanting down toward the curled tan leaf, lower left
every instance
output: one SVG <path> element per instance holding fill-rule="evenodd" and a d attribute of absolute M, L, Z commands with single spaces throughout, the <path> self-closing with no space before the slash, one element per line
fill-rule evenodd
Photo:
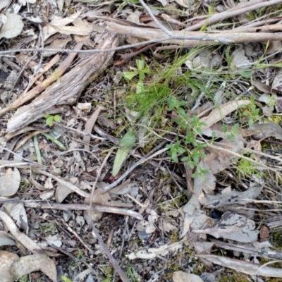
<path fill-rule="evenodd" d="M 33 254 L 38 254 L 42 252 L 42 248 L 39 247 L 37 243 L 33 242 L 29 237 L 27 237 L 27 235 L 21 233 L 18 230 L 18 227 L 13 222 L 13 219 L 11 219 L 11 217 L 8 216 L 8 214 L 0 211 L 0 219 L 6 224 L 8 230 L 11 232 L 13 237 L 15 237 L 16 240 L 18 240 L 18 242 L 20 242 L 23 246 L 25 246 L 27 250 L 30 250 L 30 252 L 32 252 Z"/>

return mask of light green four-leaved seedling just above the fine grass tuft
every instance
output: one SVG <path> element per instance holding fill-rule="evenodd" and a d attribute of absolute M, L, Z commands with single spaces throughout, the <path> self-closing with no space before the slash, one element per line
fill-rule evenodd
<path fill-rule="evenodd" d="M 123 78 L 127 80 L 132 80 L 133 78 L 135 78 L 136 75 L 138 75 L 139 80 L 136 85 L 136 93 L 141 93 L 142 91 L 144 91 L 143 80 L 145 79 L 145 74 L 149 74 L 150 70 L 149 66 L 145 66 L 144 57 L 142 57 L 142 59 L 140 60 L 136 59 L 136 66 L 137 68 L 130 66 L 129 68 L 131 71 L 124 71 Z"/>

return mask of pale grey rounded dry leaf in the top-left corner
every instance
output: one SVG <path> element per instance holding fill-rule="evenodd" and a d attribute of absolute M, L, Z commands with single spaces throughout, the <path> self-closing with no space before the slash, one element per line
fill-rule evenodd
<path fill-rule="evenodd" d="M 16 13 L 7 13 L 6 14 L 6 23 L 2 25 L 0 30 L 0 39 L 1 38 L 13 38 L 20 35 L 20 32 L 23 30 L 23 20 L 20 15 Z"/>

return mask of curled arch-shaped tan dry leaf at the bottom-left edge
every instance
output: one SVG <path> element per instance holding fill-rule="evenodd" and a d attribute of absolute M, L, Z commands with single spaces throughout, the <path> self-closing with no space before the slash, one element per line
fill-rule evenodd
<path fill-rule="evenodd" d="M 10 274 L 22 277 L 33 271 L 42 271 L 51 281 L 57 281 L 57 271 L 54 262 L 47 255 L 36 254 L 21 257 L 11 265 Z"/>

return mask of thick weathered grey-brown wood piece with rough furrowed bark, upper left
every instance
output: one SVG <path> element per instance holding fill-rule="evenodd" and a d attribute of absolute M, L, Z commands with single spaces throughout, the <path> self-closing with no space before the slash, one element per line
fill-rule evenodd
<path fill-rule="evenodd" d="M 114 47 L 120 44 L 121 38 L 116 33 L 109 32 L 102 48 Z M 28 106 L 20 107 L 9 119 L 7 131 L 17 130 L 28 123 L 32 123 L 32 121 L 36 121 L 44 114 L 49 114 L 51 109 L 54 109 L 54 106 L 73 104 L 86 85 L 104 71 L 113 55 L 114 52 L 104 52 L 82 59 L 71 71 L 63 75 L 60 81 L 56 81 L 49 86 Z"/>

